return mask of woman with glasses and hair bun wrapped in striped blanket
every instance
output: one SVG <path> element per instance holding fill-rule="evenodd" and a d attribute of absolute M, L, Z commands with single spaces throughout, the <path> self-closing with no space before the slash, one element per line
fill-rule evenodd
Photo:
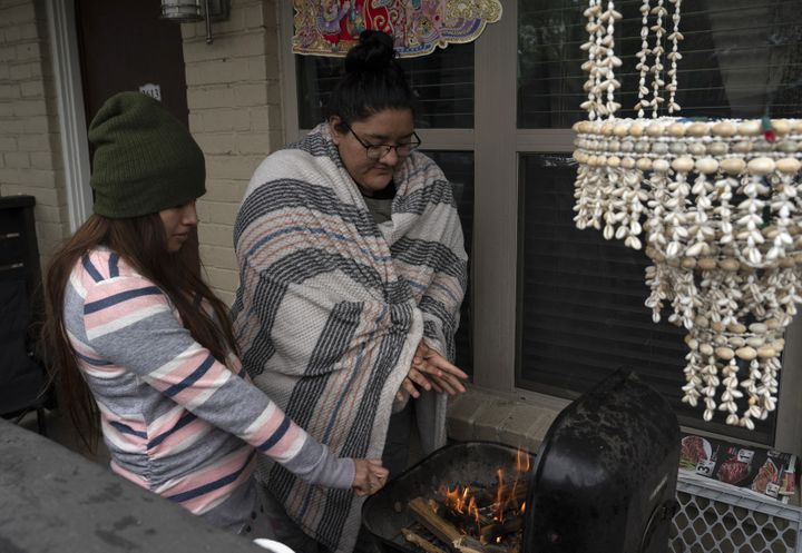
<path fill-rule="evenodd" d="M 233 308 L 256 385 L 339 455 L 382 455 L 391 475 L 413 416 L 424 452 L 444 445 L 447 395 L 467 377 L 451 364 L 462 228 L 451 185 L 414 151 L 413 93 L 394 55 L 388 34 L 364 31 L 327 120 L 256 169 L 234 229 Z M 350 491 L 271 463 L 258 477 L 316 542 L 296 549 L 353 550 L 362 502 Z"/>

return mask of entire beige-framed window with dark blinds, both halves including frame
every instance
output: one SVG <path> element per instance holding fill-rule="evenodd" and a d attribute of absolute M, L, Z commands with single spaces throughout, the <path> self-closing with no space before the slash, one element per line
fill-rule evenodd
<path fill-rule="evenodd" d="M 624 53 L 616 73 L 628 109 L 623 117 L 633 115 L 635 103 L 639 6 L 640 0 L 616 2 L 624 14 L 616 36 Z M 549 406 L 567 404 L 609 371 L 628 366 L 672 399 L 685 426 L 802 453 L 802 376 L 784 372 L 780 415 L 756 433 L 706 425 L 702 409 L 679 404 L 685 333 L 653 324 L 643 305 L 646 257 L 574 227 L 570 126 L 585 118 L 579 46 L 586 7 L 586 0 L 503 2 L 501 21 L 476 42 L 403 60 L 421 98 L 423 148 L 454 182 L 471 248 L 459 362 L 466 363 L 467 349 L 475 385 Z M 291 28 L 292 9 L 282 9 Z M 772 117 L 800 117 L 798 0 L 686 2 L 681 24 L 677 99 L 684 116 L 760 117 L 767 109 Z M 285 121 L 300 132 L 321 120 L 331 87 L 324 81 L 340 62 L 292 56 L 286 61 L 297 73 L 285 89 L 292 105 Z M 802 364 L 802 322 L 789 333 L 784 363 L 795 366 Z"/>

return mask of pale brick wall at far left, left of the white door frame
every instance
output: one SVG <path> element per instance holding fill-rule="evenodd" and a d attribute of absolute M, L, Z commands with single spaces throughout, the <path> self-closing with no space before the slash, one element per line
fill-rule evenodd
<path fill-rule="evenodd" d="M 68 233 L 43 0 L 0 0 L 0 195 L 35 196 L 46 261 Z"/>

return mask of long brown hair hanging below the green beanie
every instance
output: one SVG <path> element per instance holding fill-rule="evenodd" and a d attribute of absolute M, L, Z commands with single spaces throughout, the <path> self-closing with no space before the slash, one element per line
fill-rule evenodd
<path fill-rule="evenodd" d="M 196 258 L 197 246 L 187 243 L 178 253 L 170 254 L 166 245 L 167 236 L 158 214 L 128 219 L 92 215 L 53 254 L 45 275 L 47 317 L 42 338 L 53 355 L 51 383 L 57 384 L 60 402 L 92 453 L 100 434 L 99 411 L 78 368 L 76 352 L 63 325 L 67 283 L 85 254 L 98 246 L 108 247 L 169 297 L 193 338 L 216 359 L 225 362 L 227 352 L 236 353 L 227 307 L 193 268 L 190 260 Z M 194 300 L 198 295 L 209 303 L 216 320 L 197 308 Z"/>

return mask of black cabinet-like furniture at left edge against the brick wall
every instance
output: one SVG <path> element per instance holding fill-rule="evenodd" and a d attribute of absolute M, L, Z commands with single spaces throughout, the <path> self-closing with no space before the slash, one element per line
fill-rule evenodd
<path fill-rule="evenodd" d="M 42 320 L 41 267 L 32 196 L 0 197 L 0 415 L 42 407 L 46 377 L 35 356 Z"/>

